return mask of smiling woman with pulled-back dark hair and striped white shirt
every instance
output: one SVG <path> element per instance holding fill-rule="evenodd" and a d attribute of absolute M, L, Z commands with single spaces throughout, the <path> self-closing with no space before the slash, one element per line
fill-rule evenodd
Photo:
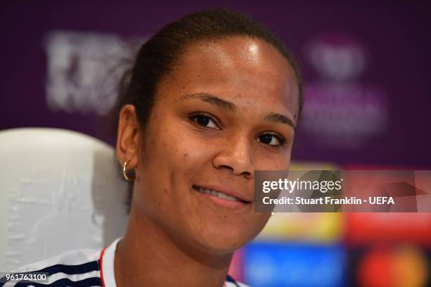
<path fill-rule="evenodd" d="M 232 253 L 270 217 L 254 212 L 254 170 L 289 168 L 301 113 L 289 53 L 241 13 L 204 11 L 151 37 L 123 91 L 125 236 L 22 270 L 55 286 L 244 286 L 227 275 Z"/>

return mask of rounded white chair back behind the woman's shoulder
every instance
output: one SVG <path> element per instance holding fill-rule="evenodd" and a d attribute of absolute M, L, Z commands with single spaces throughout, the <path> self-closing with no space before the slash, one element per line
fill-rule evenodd
<path fill-rule="evenodd" d="M 108 144 L 63 129 L 8 129 L 0 160 L 0 271 L 123 236 L 127 182 Z"/>

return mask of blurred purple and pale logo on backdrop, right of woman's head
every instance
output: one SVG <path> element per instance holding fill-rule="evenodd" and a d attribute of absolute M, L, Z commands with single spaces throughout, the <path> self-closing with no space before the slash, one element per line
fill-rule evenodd
<path fill-rule="evenodd" d="M 367 54 L 358 42 L 325 35 L 308 45 L 308 60 L 318 78 L 304 89 L 304 132 L 323 146 L 360 149 L 387 129 L 386 94 L 360 77 Z"/>

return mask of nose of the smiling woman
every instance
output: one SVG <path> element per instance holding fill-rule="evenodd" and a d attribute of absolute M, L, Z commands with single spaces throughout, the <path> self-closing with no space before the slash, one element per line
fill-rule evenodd
<path fill-rule="evenodd" d="M 237 135 L 223 142 L 220 151 L 213 158 L 213 166 L 231 170 L 235 175 L 253 178 L 254 164 L 251 143 L 247 136 Z"/>

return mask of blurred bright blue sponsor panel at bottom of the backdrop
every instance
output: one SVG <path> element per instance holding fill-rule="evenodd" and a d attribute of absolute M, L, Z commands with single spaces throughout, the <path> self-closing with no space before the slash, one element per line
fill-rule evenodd
<path fill-rule="evenodd" d="M 346 258 L 339 245 L 250 243 L 244 261 L 251 286 L 344 286 Z"/>

